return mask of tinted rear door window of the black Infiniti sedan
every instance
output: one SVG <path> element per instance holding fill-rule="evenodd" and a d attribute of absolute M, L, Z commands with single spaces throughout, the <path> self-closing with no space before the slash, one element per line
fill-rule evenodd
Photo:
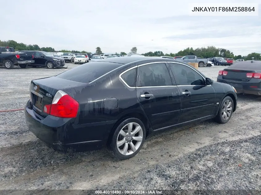
<path fill-rule="evenodd" d="M 169 71 L 165 63 L 153 63 L 138 67 L 137 87 L 171 86 Z"/>

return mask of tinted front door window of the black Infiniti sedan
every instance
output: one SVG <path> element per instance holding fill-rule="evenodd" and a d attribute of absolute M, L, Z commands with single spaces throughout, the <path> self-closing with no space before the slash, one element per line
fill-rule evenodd
<path fill-rule="evenodd" d="M 179 85 L 205 85 L 202 76 L 192 68 L 182 64 L 169 63 L 170 70 Z"/>

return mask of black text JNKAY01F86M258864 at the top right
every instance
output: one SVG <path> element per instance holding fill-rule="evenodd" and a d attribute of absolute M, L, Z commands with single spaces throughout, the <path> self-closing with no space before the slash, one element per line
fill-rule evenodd
<path fill-rule="evenodd" d="M 255 7 L 193 7 L 191 10 L 193 12 L 210 12 L 210 11 L 216 11 L 216 12 L 251 12 L 255 11 Z"/>

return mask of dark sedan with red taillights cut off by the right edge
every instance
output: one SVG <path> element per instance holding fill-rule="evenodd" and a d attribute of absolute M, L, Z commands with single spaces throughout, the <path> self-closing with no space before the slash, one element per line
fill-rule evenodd
<path fill-rule="evenodd" d="M 217 82 L 232 85 L 238 93 L 261 95 L 261 61 L 236 62 L 219 71 Z"/>

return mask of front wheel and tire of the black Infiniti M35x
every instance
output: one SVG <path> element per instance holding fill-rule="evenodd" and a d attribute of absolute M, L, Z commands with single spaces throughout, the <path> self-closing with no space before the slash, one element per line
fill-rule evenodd
<path fill-rule="evenodd" d="M 226 96 L 220 104 L 215 120 L 221 124 L 227 123 L 232 116 L 233 108 L 234 104 L 232 98 Z"/>

